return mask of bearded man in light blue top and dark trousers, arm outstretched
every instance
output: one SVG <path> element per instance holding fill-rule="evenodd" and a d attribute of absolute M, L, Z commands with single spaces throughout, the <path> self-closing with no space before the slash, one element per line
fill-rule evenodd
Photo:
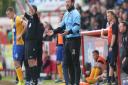
<path fill-rule="evenodd" d="M 74 0 L 66 0 L 67 12 L 64 14 L 60 27 L 49 31 L 48 35 L 57 34 L 62 31 L 65 36 L 63 71 L 66 85 L 79 85 L 80 82 L 80 14 L 74 8 Z M 69 75 L 68 75 L 69 74 Z M 70 79 L 69 79 L 70 78 Z"/>

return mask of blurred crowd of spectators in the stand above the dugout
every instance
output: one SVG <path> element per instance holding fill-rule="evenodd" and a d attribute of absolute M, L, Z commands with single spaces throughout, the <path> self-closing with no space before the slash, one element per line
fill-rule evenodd
<path fill-rule="evenodd" d="M 78 4 L 76 8 L 81 13 L 82 30 L 98 30 L 106 27 L 106 10 L 112 9 L 120 21 L 128 21 L 128 0 L 87 0 L 87 10 L 82 10 Z"/>

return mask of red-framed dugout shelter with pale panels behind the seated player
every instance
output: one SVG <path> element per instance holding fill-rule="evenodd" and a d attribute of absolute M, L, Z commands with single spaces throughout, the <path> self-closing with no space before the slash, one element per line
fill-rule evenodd
<path fill-rule="evenodd" d="M 105 35 L 107 35 L 107 29 L 104 29 Z M 101 30 L 94 31 L 82 31 L 81 32 L 81 47 L 82 47 L 82 72 L 86 76 L 85 63 L 90 62 L 94 65 L 92 51 L 98 50 L 101 56 L 105 58 L 108 55 L 108 40 L 101 38 Z M 120 66 L 120 56 L 118 51 L 117 57 L 117 76 L 118 85 L 121 85 L 121 66 Z"/>

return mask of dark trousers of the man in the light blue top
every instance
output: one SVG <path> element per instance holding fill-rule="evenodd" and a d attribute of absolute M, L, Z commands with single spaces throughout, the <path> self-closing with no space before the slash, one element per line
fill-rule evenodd
<path fill-rule="evenodd" d="M 66 39 L 64 45 L 63 72 L 66 85 L 79 85 L 80 82 L 80 44 L 81 39 Z"/>

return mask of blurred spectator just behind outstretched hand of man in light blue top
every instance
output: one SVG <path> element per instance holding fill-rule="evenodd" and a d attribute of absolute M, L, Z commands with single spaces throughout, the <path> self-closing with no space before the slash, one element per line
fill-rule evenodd
<path fill-rule="evenodd" d="M 46 33 L 48 30 L 53 30 L 53 27 L 51 26 L 51 24 L 49 24 L 48 22 L 44 22 L 44 34 L 43 34 L 43 40 L 44 41 L 52 41 L 53 40 L 53 35 L 52 36 L 48 36 Z"/>

